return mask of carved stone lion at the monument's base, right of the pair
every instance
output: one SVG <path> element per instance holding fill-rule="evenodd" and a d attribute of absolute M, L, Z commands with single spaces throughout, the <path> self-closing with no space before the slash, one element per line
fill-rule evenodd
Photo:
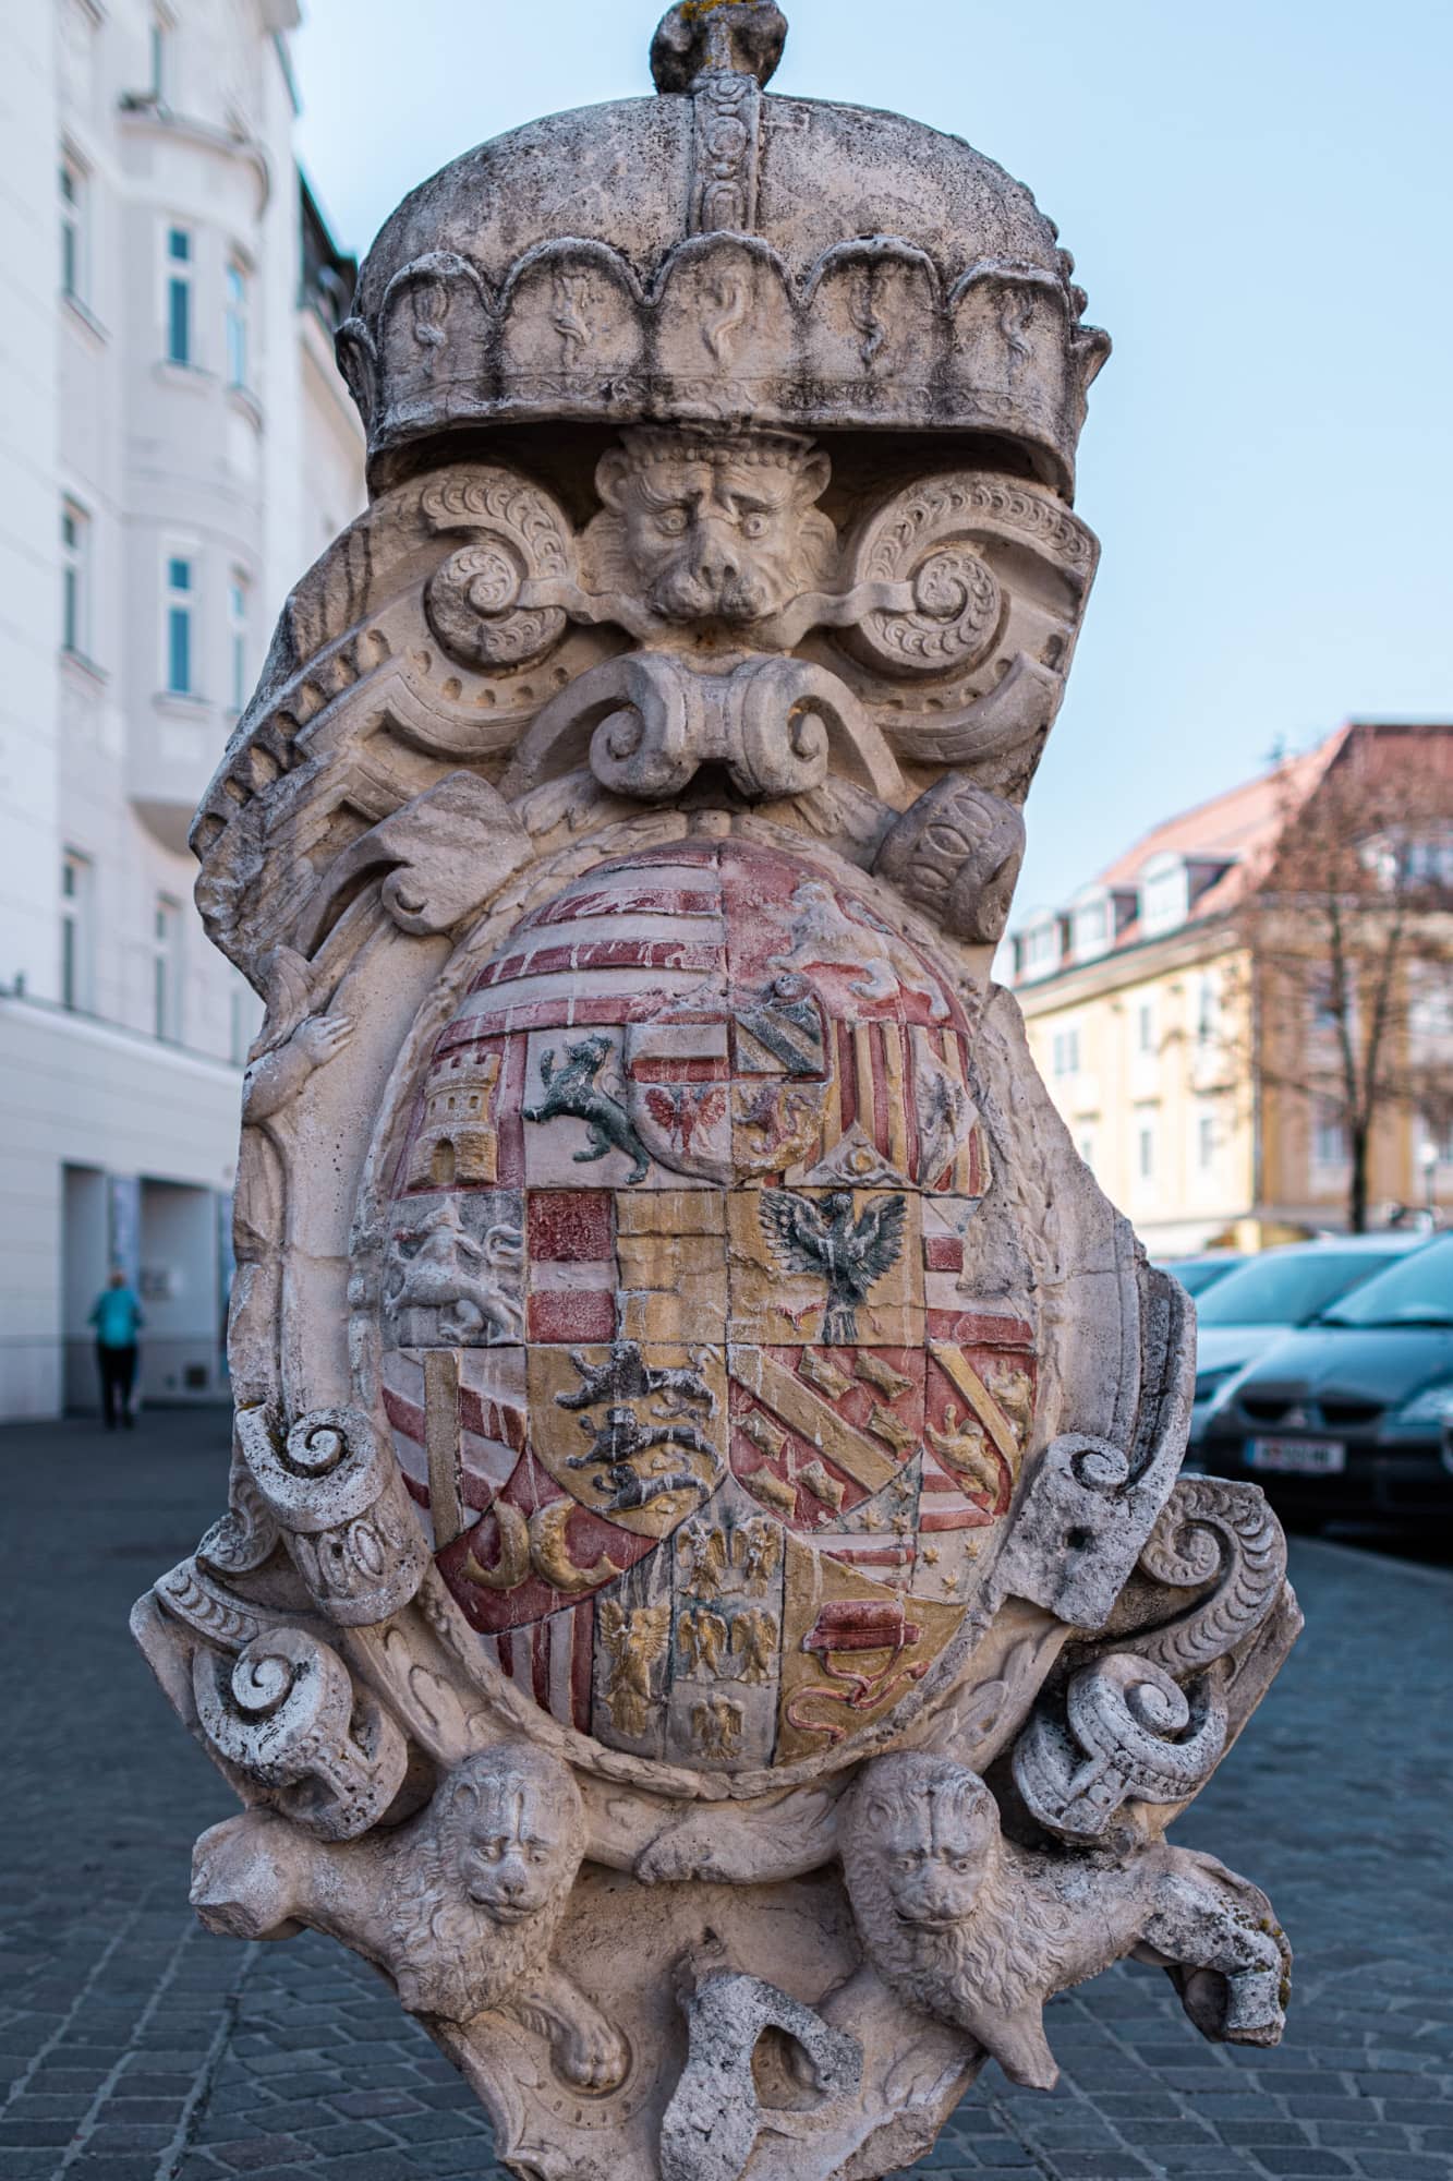
<path fill-rule="evenodd" d="M 1124 1867 L 1030 1852 L 1004 1839 L 977 1773 L 897 1754 L 849 1797 L 842 1865 L 877 1976 L 964 2028 L 1014 2083 L 1054 2089 L 1045 2000 L 1126 1956 L 1169 1972 L 1204 2037 L 1281 2037 L 1287 1943 L 1265 1895 L 1213 1856 L 1163 1841 Z"/>

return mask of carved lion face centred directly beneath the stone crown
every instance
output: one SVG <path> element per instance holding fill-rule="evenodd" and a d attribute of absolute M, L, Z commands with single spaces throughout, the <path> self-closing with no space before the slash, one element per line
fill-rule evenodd
<path fill-rule="evenodd" d="M 829 475 L 788 432 L 626 432 L 596 471 L 596 545 L 661 622 L 764 622 L 827 580 Z"/>

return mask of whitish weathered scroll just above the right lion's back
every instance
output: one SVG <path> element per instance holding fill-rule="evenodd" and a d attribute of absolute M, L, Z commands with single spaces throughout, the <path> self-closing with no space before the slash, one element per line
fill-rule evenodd
<path fill-rule="evenodd" d="M 1220 1677 L 1182 1690 L 1161 1666 L 1115 1651 L 1071 1675 L 1065 1723 L 1043 1708 L 1014 1745 L 1014 1786 L 1060 1841 L 1095 1841 L 1124 1802 L 1180 1802 L 1226 1747 Z"/>

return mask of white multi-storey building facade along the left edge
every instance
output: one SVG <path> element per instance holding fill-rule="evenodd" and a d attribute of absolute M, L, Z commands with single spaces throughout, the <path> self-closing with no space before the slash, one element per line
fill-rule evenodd
<path fill-rule="evenodd" d="M 225 1391 L 240 1064 L 185 835 L 277 608 L 364 502 L 351 266 L 292 157 L 295 0 L 13 0 L 0 76 L 0 1418 Z"/>

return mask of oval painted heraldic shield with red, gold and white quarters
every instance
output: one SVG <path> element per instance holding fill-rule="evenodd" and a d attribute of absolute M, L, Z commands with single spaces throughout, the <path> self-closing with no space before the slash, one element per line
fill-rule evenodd
<path fill-rule="evenodd" d="M 969 1045 L 866 888 L 735 840 L 591 870 L 469 979 L 401 1132 L 384 1402 L 561 1725 L 792 1764 L 960 1629 L 1036 1389 L 973 1276 Z"/>

